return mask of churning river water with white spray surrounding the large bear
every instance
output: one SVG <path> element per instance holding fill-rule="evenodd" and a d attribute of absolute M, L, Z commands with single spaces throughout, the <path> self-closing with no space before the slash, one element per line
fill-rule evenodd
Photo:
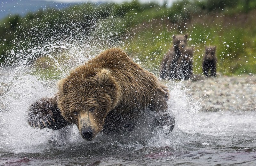
<path fill-rule="evenodd" d="M 52 57 L 49 50 L 56 47 L 68 50 L 64 52 L 71 60 L 61 64 Z M 132 132 L 99 134 L 91 142 L 81 138 L 76 126 L 58 131 L 30 127 L 30 104 L 54 95 L 59 78 L 99 53 L 89 46 L 81 50 L 58 43 L 27 51 L 28 56 L 40 52 L 53 60 L 59 72 L 53 79 L 36 75 L 40 67 L 29 65 L 28 59 L 18 67 L 1 69 L 0 165 L 256 164 L 256 113 L 199 112 L 200 102 L 190 97 L 182 82 L 167 83 L 168 112 L 176 117 L 174 130 L 167 135 L 165 129 L 151 133 L 148 119 Z"/>

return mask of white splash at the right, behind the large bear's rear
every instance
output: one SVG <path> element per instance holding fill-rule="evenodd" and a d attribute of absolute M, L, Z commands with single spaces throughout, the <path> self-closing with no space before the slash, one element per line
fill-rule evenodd
<path fill-rule="evenodd" d="M 165 130 L 158 130 L 157 134 L 150 138 L 148 146 L 152 147 L 176 147 L 184 148 L 183 137 L 184 133 L 196 134 L 195 126 L 198 126 L 201 121 L 198 117 L 200 104 L 187 93 L 188 89 L 182 82 L 169 82 L 167 86 L 170 90 L 170 99 L 168 101 L 168 112 L 175 116 L 174 130 L 165 134 Z"/>

